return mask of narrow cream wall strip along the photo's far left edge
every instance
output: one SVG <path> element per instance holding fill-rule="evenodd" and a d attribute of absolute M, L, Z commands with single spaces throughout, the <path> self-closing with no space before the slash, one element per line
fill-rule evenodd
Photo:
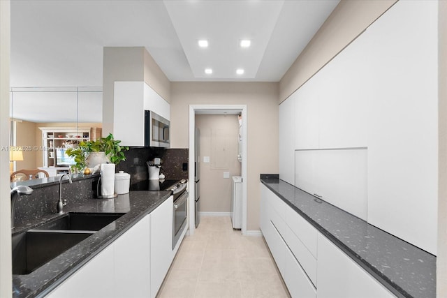
<path fill-rule="evenodd" d="M 10 1 L 0 1 L 0 146 L 9 146 Z M 0 150 L 0 198 L 9 198 L 9 152 Z M 10 200 L 0 200 L 0 297 L 11 297 Z"/>

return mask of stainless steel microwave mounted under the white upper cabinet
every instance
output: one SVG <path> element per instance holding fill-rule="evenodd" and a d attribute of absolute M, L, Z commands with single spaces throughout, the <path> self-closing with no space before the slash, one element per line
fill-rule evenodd
<path fill-rule="evenodd" d="M 170 121 L 152 111 L 145 110 L 145 147 L 170 146 Z"/>

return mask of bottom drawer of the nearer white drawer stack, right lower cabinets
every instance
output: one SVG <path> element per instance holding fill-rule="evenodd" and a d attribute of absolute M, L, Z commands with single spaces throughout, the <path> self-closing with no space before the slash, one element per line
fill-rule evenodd
<path fill-rule="evenodd" d="M 309 281 L 305 271 L 302 270 L 293 253 L 288 249 L 285 251 L 285 262 L 286 272 L 283 277 L 291 297 L 316 298 L 314 285 Z"/>

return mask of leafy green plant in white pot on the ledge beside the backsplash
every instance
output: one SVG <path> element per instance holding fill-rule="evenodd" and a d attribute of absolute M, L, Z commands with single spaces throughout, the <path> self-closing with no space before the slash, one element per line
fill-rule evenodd
<path fill-rule="evenodd" d="M 80 142 L 78 147 L 67 149 L 68 156 L 73 156 L 76 162 L 75 165 L 72 165 L 72 170 L 80 172 L 85 167 L 94 167 L 98 163 L 110 162 L 117 165 L 121 161 L 125 161 L 124 151 L 129 150 L 129 147 L 120 146 L 119 143 L 121 141 L 115 140 L 109 133 L 107 137 L 101 137 L 95 141 Z"/>

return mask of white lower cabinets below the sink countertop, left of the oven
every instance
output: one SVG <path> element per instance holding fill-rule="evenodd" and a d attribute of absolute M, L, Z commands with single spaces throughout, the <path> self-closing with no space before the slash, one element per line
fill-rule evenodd
<path fill-rule="evenodd" d="M 47 297 L 156 297 L 174 255 L 170 196 Z"/>

